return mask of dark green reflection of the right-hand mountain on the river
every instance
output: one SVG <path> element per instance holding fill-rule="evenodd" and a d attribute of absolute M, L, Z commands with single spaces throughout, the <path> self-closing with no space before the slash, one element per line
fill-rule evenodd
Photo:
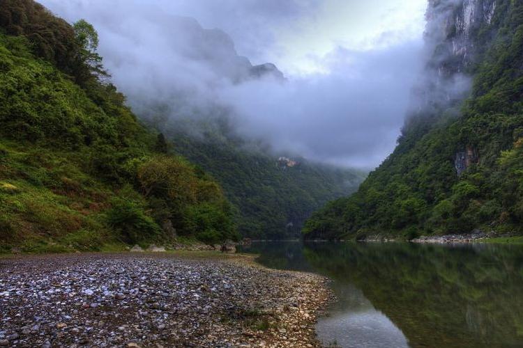
<path fill-rule="evenodd" d="M 311 244 L 305 258 L 359 287 L 412 347 L 523 342 L 522 248 Z"/>

